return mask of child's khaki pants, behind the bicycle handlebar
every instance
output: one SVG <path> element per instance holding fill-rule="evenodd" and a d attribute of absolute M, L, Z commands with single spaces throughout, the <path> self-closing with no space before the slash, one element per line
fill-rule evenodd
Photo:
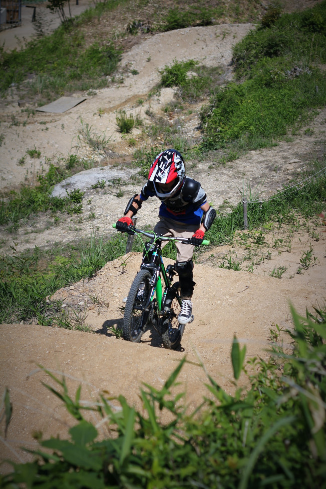
<path fill-rule="evenodd" d="M 191 238 L 199 226 L 199 224 L 182 224 L 178 221 L 174 221 L 173 219 L 160 217 L 159 222 L 154 228 L 154 232 L 163 236 Z M 166 244 L 168 244 L 168 241 L 163 241 L 162 248 Z M 175 244 L 177 247 L 177 262 L 184 262 L 192 259 L 195 248 L 193 245 L 186 245 L 183 243 L 178 243 L 177 241 Z"/>

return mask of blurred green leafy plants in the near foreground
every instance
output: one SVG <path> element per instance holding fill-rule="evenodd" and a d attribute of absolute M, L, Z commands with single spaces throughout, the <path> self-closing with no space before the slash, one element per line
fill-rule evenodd
<path fill-rule="evenodd" d="M 291 313 L 291 331 L 271 330 L 268 360 L 244 364 L 246 346 L 234 337 L 234 394 L 205 370 L 207 395 L 194 408 L 187 409 L 178 382 L 186 357 L 161 388 L 140 388 L 140 410 L 122 395 L 116 409 L 107 392 L 85 405 L 81 386 L 72 396 L 64 377 L 42 368 L 49 379 L 43 386 L 75 423 L 62 439 L 39 434 L 33 460 L 13 464 L 0 487 L 325 488 L 326 309 Z M 240 376 L 246 388 L 238 386 Z M 15 409 L 8 390 L 2 406 L 6 432 Z"/>

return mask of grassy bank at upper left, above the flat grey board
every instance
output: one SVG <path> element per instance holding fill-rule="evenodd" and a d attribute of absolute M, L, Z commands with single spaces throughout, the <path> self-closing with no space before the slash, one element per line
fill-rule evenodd
<path fill-rule="evenodd" d="M 27 74 L 35 74 L 25 84 L 41 100 L 53 99 L 64 90 L 87 90 L 107 86 L 120 51 L 112 43 L 85 45 L 85 36 L 74 25 L 61 25 L 52 34 L 31 40 L 21 51 L 0 48 L 0 93 L 19 85 Z"/>

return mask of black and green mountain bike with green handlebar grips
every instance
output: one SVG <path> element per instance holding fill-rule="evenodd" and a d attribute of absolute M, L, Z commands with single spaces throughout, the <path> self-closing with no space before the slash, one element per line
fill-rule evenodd
<path fill-rule="evenodd" d="M 115 228 L 115 224 L 113 227 Z M 178 322 L 181 309 L 180 284 L 172 283 L 177 272 L 174 265 L 165 268 L 161 246 L 163 241 L 190 244 L 190 238 L 160 236 L 133 226 L 128 227 L 127 233 L 135 234 L 139 238 L 143 235 L 151 241 L 142 241 L 144 252 L 140 270 L 132 282 L 126 300 L 123 338 L 138 343 L 146 329 L 153 326 L 162 337 L 164 347 L 175 350 L 181 343 L 185 327 Z M 209 241 L 204 240 L 202 244 L 209 245 Z"/>

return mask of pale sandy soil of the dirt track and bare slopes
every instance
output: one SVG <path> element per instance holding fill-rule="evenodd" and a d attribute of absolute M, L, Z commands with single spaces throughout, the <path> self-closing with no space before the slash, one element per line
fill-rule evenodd
<path fill-rule="evenodd" d="M 46 168 L 45 157 L 66 156 L 72 152 L 80 118 L 92 124 L 94 130 L 106 131 L 112 141 L 110 150 L 119 155 L 120 161 L 124 158 L 127 163 L 133 150 L 116 130 L 116 109 L 123 107 L 140 114 L 144 120 L 146 108 L 162 113 L 165 105 L 173 99 L 172 89 L 161 90 L 143 105 L 137 104 L 137 100 L 146 100 L 148 92 L 159 79 L 158 69 L 173 59 L 192 58 L 205 64 L 221 65 L 225 79 L 228 79 L 232 76 L 229 66 L 232 45 L 251 27 L 250 24 L 227 24 L 150 36 L 124 54 L 121 61 L 122 83 L 99 90 L 64 114 L 36 112 L 27 118 L 20 111 L 13 90 L 11 98 L 0 101 L 1 132 L 5 136 L 1 147 L 1 188 L 13 188 L 25 179 L 35 183 L 37 171 L 42 166 Z M 139 74 L 131 74 L 133 67 L 137 67 Z M 187 137 L 198 138 L 199 107 L 193 108 L 193 113 L 180 125 Z M 325 152 L 325 117 L 326 111 L 321 110 L 311 122 L 311 130 L 303 128 L 292 142 L 251 151 L 225 167 L 217 167 L 213 160 L 196 165 L 189 161 L 187 173 L 201 181 L 209 200 L 217 208 L 225 200 L 238 202 L 241 198 L 239 188 L 242 189 L 243 183 L 245 186 L 250 183 L 252 189 L 258 189 L 260 195 L 267 198 L 295 174 L 302 172 L 312 158 Z M 13 120 L 20 121 L 20 124 L 13 125 Z M 137 130 L 132 135 L 140 138 Z M 27 159 L 24 165 L 17 164 L 26 148 L 34 145 L 41 151 L 41 158 Z M 79 147 L 78 154 L 87 156 L 90 148 L 86 145 Z M 98 164 L 110 166 L 110 156 L 98 155 Z M 72 241 L 76 237 L 88 236 L 93 229 L 110 234 L 111 224 L 121 216 L 127 199 L 142 184 L 129 179 L 128 169 L 122 167 L 121 171 L 125 172 L 123 198 L 116 196 L 116 188 L 112 186 L 87 189 L 89 180 L 86 174 L 83 177 L 86 190 L 81 216 L 56 226 L 49 216 L 44 216 L 22 226 L 16 234 L 2 229 L 0 252 L 8 253 L 13 242 L 21 251 L 35 245 L 52 246 L 54 242 Z M 138 224 L 153 224 L 157 209 L 158 202 L 154 200 L 144 206 L 139 213 Z M 95 217 L 89 219 L 92 213 Z M 290 302 L 304 314 L 306 307 L 312 309 L 325 301 L 326 226 L 323 216 L 316 217 L 309 228 L 302 226 L 299 231 L 293 231 L 291 228 L 274 228 L 266 234 L 265 243 L 261 246 L 255 244 L 254 234 L 247 233 L 251 243 L 249 248 L 248 242 L 245 245 L 245 239 L 238 236 L 231 245 L 209 249 L 197 260 L 197 286 L 193 298 L 195 321 L 186 326 L 180 351 L 162 348 L 159 338 L 151 331 L 144 335 L 140 344 L 134 345 L 116 339 L 108 329 L 121 326 L 122 299 L 127 295 L 140 264 L 137 253 L 108 263 L 90 281 L 61 289 L 52 297 L 63 300 L 64 307 L 74 308 L 84 315 L 85 324 L 92 328 L 93 334 L 38 325 L 1 325 L 0 389 L 2 392 L 7 386 L 10 390 L 13 416 L 7 439 L 0 440 L 0 457 L 15 462 L 30 460 L 30 456 L 19 447 L 35 447 L 35 431 L 41 431 L 44 437 L 57 433 L 64 436 L 67 425 L 73 423 L 61 403 L 42 386 L 42 381 L 51 385 L 53 382 L 38 365 L 58 376 L 63 374 L 72 395 L 81 383 L 84 401 L 95 401 L 98 393 L 106 390 L 112 396 L 123 394 L 128 402 L 142 409 L 138 397 L 142 382 L 159 388 L 177 362 L 186 355 L 192 363 L 184 366 L 180 381 L 186 393 L 185 402 L 190 408 L 198 405 L 203 394 L 208 394 L 204 386 L 205 370 L 196 363 L 202 362 L 207 372 L 227 392 L 232 392 L 230 349 L 234 334 L 247 345 L 247 358 L 256 355 L 266 358 L 269 355 L 266 348 L 270 328 L 276 324 L 284 329 L 292 326 Z M 300 259 L 310 247 L 314 256 L 312 264 L 298 274 Z M 249 249 L 251 258 L 248 258 Z M 230 256 L 242 262 L 241 271 L 218 268 Z M 253 273 L 247 271 L 251 265 Z M 287 270 L 278 279 L 273 275 L 280 267 Z M 284 336 L 284 342 L 287 341 Z M 244 375 L 239 383 L 246 384 Z M 2 466 L 2 470 L 6 469 Z"/>

